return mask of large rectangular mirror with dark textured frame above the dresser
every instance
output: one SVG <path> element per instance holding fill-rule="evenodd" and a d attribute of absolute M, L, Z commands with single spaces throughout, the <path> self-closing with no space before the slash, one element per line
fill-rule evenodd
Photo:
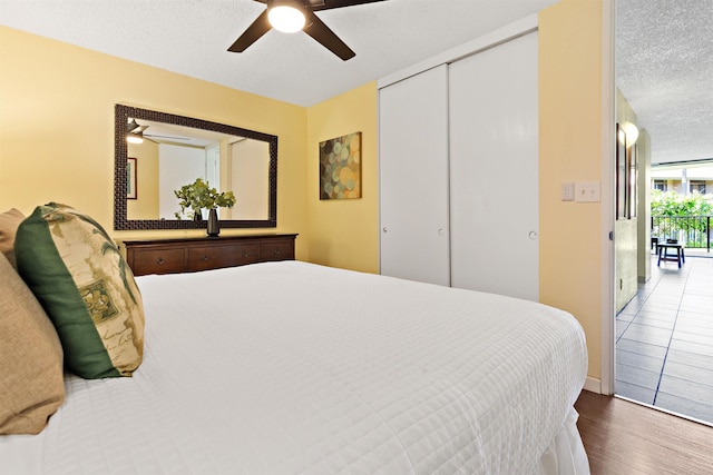
<path fill-rule="evenodd" d="M 114 229 L 204 228 L 176 217 L 173 191 L 196 178 L 235 195 L 218 209 L 222 228 L 277 226 L 276 136 L 116 105 Z"/>

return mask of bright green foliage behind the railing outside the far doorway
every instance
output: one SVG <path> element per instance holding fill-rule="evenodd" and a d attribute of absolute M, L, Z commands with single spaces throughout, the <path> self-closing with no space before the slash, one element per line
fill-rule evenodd
<path fill-rule="evenodd" d="M 651 191 L 652 235 L 660 238 L 680 238 L 683 232 L 685 245 L 705 247 L 706 216 L 713 216 L 713 199 L 710 195 L 693 192 L 683 196 L 675 191 Z M 696 245 L 703 240 L 701 245 Z"/>

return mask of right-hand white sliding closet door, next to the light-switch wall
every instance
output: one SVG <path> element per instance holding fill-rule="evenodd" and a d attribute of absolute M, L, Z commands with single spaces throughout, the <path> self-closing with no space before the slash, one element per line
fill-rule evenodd
<path fill-rule="evenodd" d="M 538 300 L 537 33 L 449 79 L 451 284 Z"/>

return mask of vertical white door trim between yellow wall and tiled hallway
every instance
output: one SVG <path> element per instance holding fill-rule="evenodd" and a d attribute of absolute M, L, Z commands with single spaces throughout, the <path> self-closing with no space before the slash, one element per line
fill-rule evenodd
<path fill-rule="evenodd" d="M 614 2 L 602 0 L 602 380 L 600 393 L 614 394 L 614 156 L 616 138 L 614 78 Z M 614 236 L 616 239 L 616 236 Z"/>

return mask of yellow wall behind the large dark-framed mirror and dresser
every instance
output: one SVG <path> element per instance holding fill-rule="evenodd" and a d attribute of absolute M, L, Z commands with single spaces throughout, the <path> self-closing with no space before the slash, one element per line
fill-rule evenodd
<path fill-rule="evenodd" d="M 306 235 L 305 108 L 7 27 L 0 66 L 0 211 L 59 201 L 116 238 L 203 235 L 111 230 L 114 105 L 124 103 L 279 136 L 276 231 Z M 255 230 L 222 230 L 247 232 Z M 297 258 L 305 243 L 297 238 Z"/>

